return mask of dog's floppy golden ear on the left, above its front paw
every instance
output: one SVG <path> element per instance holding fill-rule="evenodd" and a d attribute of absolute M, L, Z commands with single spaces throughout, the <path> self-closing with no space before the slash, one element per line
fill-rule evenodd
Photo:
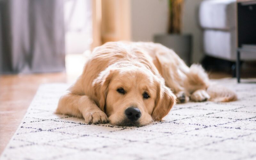
<path fill-rule="evenodd" d="M 105 104 L 108 93 L 108 85 L 111 82 L 112 77 L 117 73 L 117 70 L 106 69 L 100 72 L 99 76 L 92 82 L 95 96 L 97 97 L 100 109 L 105 112 Z"/>

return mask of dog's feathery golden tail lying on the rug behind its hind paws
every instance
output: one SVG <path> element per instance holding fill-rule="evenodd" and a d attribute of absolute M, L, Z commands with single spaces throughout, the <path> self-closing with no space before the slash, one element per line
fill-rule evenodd
<path fill-rule="evenodd" d="M 230 102 L 237 100 L 235 92 L 217 84 L 210 84 L 210 86 L 207 88 L 207 93 L 211 97 L 210 101 L 214 102 Z"/>

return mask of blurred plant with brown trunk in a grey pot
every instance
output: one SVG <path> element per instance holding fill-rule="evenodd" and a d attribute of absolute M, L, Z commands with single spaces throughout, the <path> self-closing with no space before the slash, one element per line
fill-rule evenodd
<path fill-rule="evenodd" d="M 154 42 L 173 49 L 187 65 L 190 65 L 192 36 L 181 34 L 184 0 L 169 0 L 167 34 L 157 34 Z"/>

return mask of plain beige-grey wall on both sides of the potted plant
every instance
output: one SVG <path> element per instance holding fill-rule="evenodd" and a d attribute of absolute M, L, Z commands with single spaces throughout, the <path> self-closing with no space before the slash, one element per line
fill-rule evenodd
<path fill-rule="evenodd" d="M 203 0 L 185 0 L 182 32 L 193 36 L 192 62 L 203 57 L 202 30 L 198 6 Z M 168 0 L 131 0 L 131 40 L 153 41 L 153 35 L 167 32 Z"/>

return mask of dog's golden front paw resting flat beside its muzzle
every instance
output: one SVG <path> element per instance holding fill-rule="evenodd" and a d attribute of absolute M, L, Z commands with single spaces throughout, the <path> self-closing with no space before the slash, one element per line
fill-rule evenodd
<path fill-rule="evenodd" d="M 83 114 L 85 123 L 88 124 L 99 124 L 99 123 L 108 123 L 108 116 L 101 110 L 92 110 Z"/>

